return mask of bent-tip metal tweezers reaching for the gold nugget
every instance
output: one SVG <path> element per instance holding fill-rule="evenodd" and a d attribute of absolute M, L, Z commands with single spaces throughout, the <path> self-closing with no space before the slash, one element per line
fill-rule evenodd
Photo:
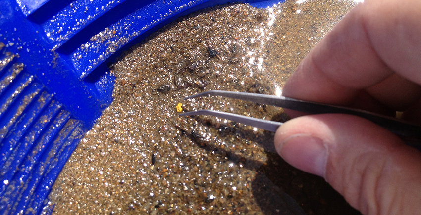
<path fill-rule="evenodd" d="M 233 91 L 224 91 L 224 90 L 211 90 L 202 92 L 196 95 L 192 95 L 184 98 L 192 99 L 207 95 L 213 96 L 223 96 L 228 98 L 235 98 L 245 101 L 251 101 L 259 104 L 273 105 L 277 107 L 282 107 L 286 109 L 296 110 L 305 112 L 308 114 L 326 114 L 326 113 L 340 113 L 340 114 L 350 114 L 359 116 L 369 121 L 390 130 L 391 132 L 408 138 L 421 139 L 421 127 L 420 125 L 412 124 L 397 118 L 384 116 L 381 114 L 372 113 L 365 110 L 335 106 L 329 104 L 316 103 L 311 101 L 298 100 L 294 98 L 288 98 L 284 96 L 275 96 L 275 95 L 265 95 L 257 93 L 246 93 L 246 92 L 233 92 Z M 235 121 L 245 125 L 253 126 L 259 129 L 264 129 L 268 131 L 275 132 L 279 126 L 283 123 L 262 120 L 253 117 L 247 117 L 238 114 L 226 113 L 221 111 L 213 110 L 197 110 L 180 114 L 180 116 L 192 116 L 192 115 L 211 115 L 219 118 L 224 118 L 227 120 Z"/>

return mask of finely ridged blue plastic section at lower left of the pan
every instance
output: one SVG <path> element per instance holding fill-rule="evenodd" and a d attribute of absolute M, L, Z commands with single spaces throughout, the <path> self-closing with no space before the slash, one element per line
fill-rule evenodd
<path fill-rule="evenodd" d="M 87 130 L 19 59 L 0 46 L 0 214 L 38 214 Z"/>

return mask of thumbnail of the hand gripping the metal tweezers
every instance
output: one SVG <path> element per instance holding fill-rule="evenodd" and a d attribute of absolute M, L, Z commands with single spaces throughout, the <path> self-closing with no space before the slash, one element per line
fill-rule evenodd
<path fill-rule="evenodd" d="M 278 154 L 292 166 L 324 176 L 327 149 L 320 138 L 294 135 L 285 139 L 276 149 Z"/>

